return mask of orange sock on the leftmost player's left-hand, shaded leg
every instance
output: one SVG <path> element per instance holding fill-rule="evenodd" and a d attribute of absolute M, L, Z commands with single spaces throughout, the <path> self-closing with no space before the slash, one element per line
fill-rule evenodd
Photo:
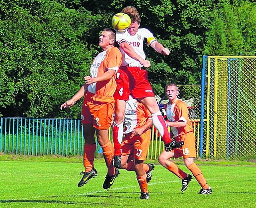
<path fill-rule="evenodd" d="M 85 167 L 85 172 L 89 172 L 93 168 L 95 150 L 96 150 L 96 144 L 86 144 L 86 143 L 84 143 L 84 167 Z"/>

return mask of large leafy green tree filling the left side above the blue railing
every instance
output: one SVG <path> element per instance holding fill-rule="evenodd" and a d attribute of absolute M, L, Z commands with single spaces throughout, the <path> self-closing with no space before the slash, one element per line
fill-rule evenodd
<path fill-rule="evenodd" d="M 2 114 L 60 116 L 60 104 L 89 73 L 95 49 L 86 38 L 97 17 L 44 0 L 2 4 L 0 10 Z"/>

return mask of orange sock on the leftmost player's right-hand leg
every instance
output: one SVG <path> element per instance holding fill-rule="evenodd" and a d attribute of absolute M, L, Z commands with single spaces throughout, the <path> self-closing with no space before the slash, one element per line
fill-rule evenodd
<path fill-rule="evenodd" d="M 103 156 L 106 162 L 106 166 L 108 168 L 108 175 L 114 175 L 115 174 L 115 168 L 113 165 L 113 157 L 114 157 L 114 147 L 112 143 L 109 141 L 105 145 L 101 146 Z"/>

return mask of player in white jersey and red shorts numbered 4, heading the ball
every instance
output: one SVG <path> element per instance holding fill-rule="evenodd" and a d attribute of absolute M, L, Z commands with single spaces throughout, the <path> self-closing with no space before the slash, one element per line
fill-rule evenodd
<path fill-rule="evenodd" d="M 148 81 L 148 72 L 141 67 L 150 67 L 150 61 L 145 60 L 144 39 L 155 51 L 163 55 L 169 55 L 170 51 L 154 38 L 154 35 L 146 28 L 139 28 L 140 14 L 133 6 L 125 7 L 122 12 L 128 14 L 132 20 L 125 32 L 116 33 L 116 41 L 120 45 L 123 55 L 122 67 L 116 79 L 117 88 L 115 98 L 115 117 L 113 125 L 114 140 L 114 166 L 120 167 L 120 143 L 122 141 L 124 111 L 126 101 L 131 94 L 139 100 L 151 113 L 152 122 L 158 130 L 165 144 L 166 151 L 180 147 L 182 143 L 176 143 L 170 138 L 166 123 L 159 110 L 154 97 L 152 87 Z"/>

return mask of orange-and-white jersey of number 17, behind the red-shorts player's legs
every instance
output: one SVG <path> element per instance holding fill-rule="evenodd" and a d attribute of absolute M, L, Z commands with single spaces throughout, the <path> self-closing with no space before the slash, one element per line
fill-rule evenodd
<path fill-rule="evenodd" d="M 125 107 L 124 134 L 142 127 L 147 119 L 151 119 L 149 110 L 135 99 L 129 99 Z"/>

